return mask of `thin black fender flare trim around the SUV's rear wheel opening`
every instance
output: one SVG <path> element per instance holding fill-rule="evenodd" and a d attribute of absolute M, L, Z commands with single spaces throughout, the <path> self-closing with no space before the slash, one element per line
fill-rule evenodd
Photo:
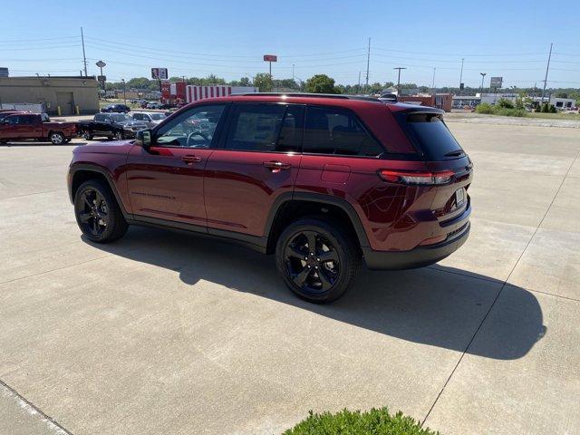
<path fill-rule="evenodd" d="M 364 227 L 362 227 L 361 218 L 359 217 L 359 214 L 353 208 L 351 203 L 349 203 L 346 199 L 337 198 L 322 193 L 285 192 L 278 198 L 275 198 L 274 204 L 272 204 L 272 208 L 270 208 L 270 212 L 268 213 L 268 217 L 266 218 L 266 226 L 264 228 L 265 237 L 268 238 L 270 237 L 270 232 L 272 230 L 275 218 L 280 208 L 282 208 L 282 206 L 285 203 L 292 201 L 307 201 L 316 204 L 329 204 L 341 208 L 346 213 L 348 218 L 351 220 L 351 223 L 353 224 L 354 231 L 356 232 L 356 236 L 359 240 L 361 247 L 370 247 L 369 238 L 366 235 Z"/>

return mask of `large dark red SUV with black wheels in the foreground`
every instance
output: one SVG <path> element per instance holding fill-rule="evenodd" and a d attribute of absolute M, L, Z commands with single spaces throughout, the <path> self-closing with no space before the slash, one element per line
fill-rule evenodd
<path fill-rule="evenodd" d="M 327 302 L 370 269 L 427 266 L 469 235 L 469 157 L 430 107 L 365 97 L 209 99 L 137 140 L 74 150 L 68 187 L 94 242 L 129 224 L 275 254 L 285 284 Z"/>

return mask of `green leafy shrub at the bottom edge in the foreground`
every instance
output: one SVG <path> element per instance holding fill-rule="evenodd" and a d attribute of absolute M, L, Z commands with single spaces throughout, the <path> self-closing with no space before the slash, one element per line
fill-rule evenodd
<path fill-rule="evenodd" d="M 435 435 L 429 429 L 422 429 L 419 422 L 405 417 L 399 411 L 391 415 L 387 408 L 371 411 L 343 410 L 332 414 L 323 412 L 309 416 L 286 430 L 284 435 Z"/>

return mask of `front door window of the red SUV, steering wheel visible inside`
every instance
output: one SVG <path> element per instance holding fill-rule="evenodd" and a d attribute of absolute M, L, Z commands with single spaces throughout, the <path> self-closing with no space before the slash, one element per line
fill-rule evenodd
<path fill-rule="evenodd" d="M 194 107 L 157 131 L 160 147 L 209 148 L 226 104 Z"/>

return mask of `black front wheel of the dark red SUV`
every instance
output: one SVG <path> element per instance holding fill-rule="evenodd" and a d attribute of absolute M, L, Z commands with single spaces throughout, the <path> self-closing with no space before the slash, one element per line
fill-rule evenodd
<path fill-rule="evenodd" d="M 82 234 L 96 243 L 117 240 L 129 227 L 111 189 L 100 179 L 85 181 L 76 191 L 74 217 Z"/>

